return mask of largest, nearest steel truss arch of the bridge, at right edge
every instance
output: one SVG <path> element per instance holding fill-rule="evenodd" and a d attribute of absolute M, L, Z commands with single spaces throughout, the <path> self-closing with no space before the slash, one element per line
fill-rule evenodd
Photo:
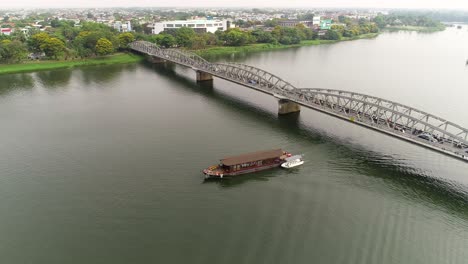
<path fill-rule="evenodd" d="M 468 129 L 397 102 L 361 93 L 322 88 L 301 88 L 290 93 L 290 96 L 354 121 L 415 135 L 428 133 L 439 139 L 439 144 L 451 143 L 468 148 Z"/>

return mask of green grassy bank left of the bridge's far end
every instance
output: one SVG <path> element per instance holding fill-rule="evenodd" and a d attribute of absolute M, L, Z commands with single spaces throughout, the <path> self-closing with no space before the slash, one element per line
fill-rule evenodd
<path fill-rule="evenodd" d="M 18 64 L 1 64 L 0 74 L 18 73 L 18 72 L 31 72 L 40 70 L 53 70 L 61 68 L 71 68 L 77 66 L 90 66 L 90 65 L 108 65 L 108 64 L 123 64 L 133 63 L 143 60 L 142 56 L 118 53 L 110 56 L 92 58 L 92 59 L 79 59 L 79 60 L 64 60 L 64 61 L 31 61 Z"/>

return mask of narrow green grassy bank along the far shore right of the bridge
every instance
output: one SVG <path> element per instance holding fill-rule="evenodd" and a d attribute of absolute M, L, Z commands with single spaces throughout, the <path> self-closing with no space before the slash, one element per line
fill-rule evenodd
<path fill-rule="evenodd" d="M 295 48 L 295 47 L 303 47 L 303 46 L 314 46 L 314 45 L 323 45 L 323 44 L 332 44 L 341 41 L 349 41 L 349 40 L 356 40 L 356 39 L 366 39 L 366 38 L 375 38 L 378 36 L 378 33 L 369 33 L 360 35 L 353 38 L 342 38 L 341 40 L 303 40 L 299 44 L 291 44 L 291 45 L 274 45 L 269 43 L 258 43 L 258 44 L 251 44 L 246 46 L 239 46 L 239 47 L 232 47 L 232 46 L 216 46 L 216 47 L 209 47 L 202 50 L 193 50 L 193 52 L 197 53 L 202 57 L 212 57 L 212 56 L 222 56 L 222 55 L 229 55 L 229 54 L 236 54 L 236 53 L 247 53 L 247 52 L 259 52 L 259 51 L 270 51 L 270 50 L 277 50 L 277 49 L 287 49 L 287 48 Z"/>

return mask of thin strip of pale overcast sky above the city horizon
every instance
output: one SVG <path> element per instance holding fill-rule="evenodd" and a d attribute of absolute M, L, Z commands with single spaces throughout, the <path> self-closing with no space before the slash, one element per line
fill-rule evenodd
<path fill-rule="evenodd" d="M 468 0 L 1 0 L 2 8 L 25 7 L 376 7 L 468 10 Z"/>

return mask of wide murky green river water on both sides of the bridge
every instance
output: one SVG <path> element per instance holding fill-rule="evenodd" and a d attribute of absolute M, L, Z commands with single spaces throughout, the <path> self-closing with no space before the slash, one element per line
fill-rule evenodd
<path fill-rule="evenodd" d="M 213 58 L 468 127 L 468 27 Z M 0 262 L 468 263 L 468 163 L 147 63 L 0 76 Z M 203 180 L 270 148 L 295 170 Z"/>

